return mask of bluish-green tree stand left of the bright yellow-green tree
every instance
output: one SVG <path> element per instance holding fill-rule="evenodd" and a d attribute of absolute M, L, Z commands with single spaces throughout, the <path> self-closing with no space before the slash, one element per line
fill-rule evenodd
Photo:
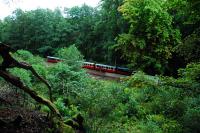
<path fill-rule="evenodd" d="M 117 34 L 125 30 L 117 11 L 121 4 L 110 0 L 105 1 L 102 10 L 87 5 L 66 8 L 65 17 L 59 9 L 17 9 L 0 22 L 0 41 L 45 56 L 54 54 L 59 47 L 76 44 L 87 60 L 113 63 L 120 55 L 110 47 Z"/>

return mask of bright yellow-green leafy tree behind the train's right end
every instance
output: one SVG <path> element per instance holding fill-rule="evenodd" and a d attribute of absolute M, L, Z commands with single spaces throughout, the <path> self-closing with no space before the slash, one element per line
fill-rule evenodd
<path fill-rule="evenodd" d="M 130 27 L 119 35 L 115 48 L 132 68 L 149 74 L 169 69 L 168 59 L 181 40 L 165 4 L 165 0 L 126 0 L 119 8 Z"/>

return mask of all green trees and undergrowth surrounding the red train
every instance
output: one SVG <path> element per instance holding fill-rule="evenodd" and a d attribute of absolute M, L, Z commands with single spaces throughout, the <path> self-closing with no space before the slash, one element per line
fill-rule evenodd
<path fill-rule="evenodd" d="M 17 9 L 0 21 L 0 41 L 24 49 L 14 57 L 49 81 L 66 121 L 84 117 L 86 132 L 197 133 L 199 7 L 197 0 L 102 0 L 96 8 Z M 47 55 L 63 61 L 47 64 Z M 121 82 L 96 80 L 81 69 L 84 60 L 137 72 Z M 46 86 L 29 72 L 10 72 L 48 98 Z"/>

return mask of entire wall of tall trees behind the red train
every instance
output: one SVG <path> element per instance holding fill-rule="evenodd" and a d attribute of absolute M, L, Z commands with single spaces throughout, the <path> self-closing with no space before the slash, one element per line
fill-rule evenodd
<path fill-rule="evenodd" d="M 43 56 L 75 44 L 86 60 L 177 75 L 200 58 L 198 7 L 195 0 L 102 0 L 63 12 L 17 9 L 0 22 L 0 40 Z"/>

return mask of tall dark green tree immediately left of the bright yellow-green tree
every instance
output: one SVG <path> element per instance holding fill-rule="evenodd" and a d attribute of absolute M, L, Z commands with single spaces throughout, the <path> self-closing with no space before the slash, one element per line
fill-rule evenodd
<path fill-rule="evenodd" d="M 102 0 L 101 2 L 98 23 L 94 28 L 95 38 L 98 38 L 96 52 L 101 53 L 103 60 L 108 64 L 123 64 L 124 61 L 120 59 L 121 53 L 113 49 L 113 45 L 116 44 L 115 38 L 128 29 L 128 23 L 118 11 L 123 0 Z"/>

